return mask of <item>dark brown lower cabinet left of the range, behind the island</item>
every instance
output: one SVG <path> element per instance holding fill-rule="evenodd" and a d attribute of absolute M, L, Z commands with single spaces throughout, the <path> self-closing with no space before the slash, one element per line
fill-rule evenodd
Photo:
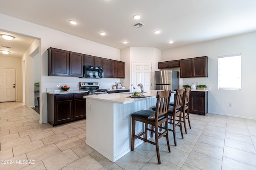
<path fill-rule="evenodd" d="M 48 94 L 48 123 L 52 126 L 86 118 L 88 93 Z"/>

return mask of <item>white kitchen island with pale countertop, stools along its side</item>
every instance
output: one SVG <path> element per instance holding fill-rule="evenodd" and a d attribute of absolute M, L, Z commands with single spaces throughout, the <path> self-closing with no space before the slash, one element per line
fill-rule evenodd
<path fill-rule="evenodd" d="M 156 92 L 144 92 L 146 98 L 130 98 L 127 93 L 84 96 L 86 98 L 86 144 L 112 162 L 131 150 L 131 114 L 156 106 Z M 172 94 L 173 96 L 173 94 Z M 136 134 L 142 132 L 136 123 Z M 150 134 L 149 134 L 150 135 Z M 135 147 L 143 143 L 135 140 Z"/>

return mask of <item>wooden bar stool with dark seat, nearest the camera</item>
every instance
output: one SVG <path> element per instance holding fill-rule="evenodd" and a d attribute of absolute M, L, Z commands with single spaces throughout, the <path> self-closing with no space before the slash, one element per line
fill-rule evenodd
<path fill-rule="evenodd" d="M 132 146 L 131 150 L 134 150 L 134 141 L 135 139 L 141 139 L 145 142 L 151 143 L 156 146 L 156 154 L 157 154 L 157 159 L 158 159 L 158 164 L 161 164 L 160 161 L 160 153 L 159 153 L 159 144 L 158 144 L 158 139 L 160 137 L 166 137 L 166 142 L 168 146 L 168 151 L 171 152 L 170 150 L 170 145 L 169 145 L 169 139 L 168 139 L 168 107 L 170 103 L 170 96 L 171 92 L 170 90 L 168 91 L 159 91 L 156 94 L 156 110 L 142 110 L 138 111 L 136 113 L 133 113 L 132 116 Z M 139 135 L 135 135 L 135 122 L 140 121 L 145 123 L 145 129 L 144 132 L 140 133 Z M 160 125 L 164 123 L 164 127 L 160 127 Z M 156 127 L 154 129 L 148 128 L 148 125 L 151 125 L 152 127 Z M 162 128 L 164 130 L 158 132 L 158 127 Z M 148 137 L 148 131 L 151 131 L 152 133 L 155 133 L 155 142 L 149 141 L 147 139 Z M 144 135 L 144 138 L 141 136 Z"/>

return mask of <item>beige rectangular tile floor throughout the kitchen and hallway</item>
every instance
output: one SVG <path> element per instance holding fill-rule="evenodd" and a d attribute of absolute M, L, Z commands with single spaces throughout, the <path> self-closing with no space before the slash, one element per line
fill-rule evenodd
<path fill-rule="evenodd" d="M 190 114 L 192 129 L 171 152 L 160 139 L 159 165 L 154 145 L 143 143 L 115 163 L 85 144 L 86 120 L 52 127 L 21 102 L 0 103 L 1 170 L 252 170 L 256 169 L 256 120 Z M 24 162 L 23 162 L 24 161 Z M 26 162 L 27 161 L 27 162 Z M 28 163 L 31 163 L 30 165 Z"/>

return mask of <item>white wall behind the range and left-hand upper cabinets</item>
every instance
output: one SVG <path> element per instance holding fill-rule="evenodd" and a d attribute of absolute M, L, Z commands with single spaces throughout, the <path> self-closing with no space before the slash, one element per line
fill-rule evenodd
<path fill-rule="evenodd" d="M 119 49 L 75 37 L 73 35 L 69 35 L 47 27 L 42 27 L 34 23 L 12 18 L 3 14 L 0 14 L 0 20 L 0 29 L 2 29 L 3 31 L 40 39 L 40 123 L 47 122 L 46 88 L 56 87 L 56 82 L 66 82 L 70 84 L 70 87 L 78 87 L 78 82 L 93 81 L 91 79 L 90 81 L 88 79 L 81 80 L 76 77 L 48 76 L 47 49 L 49 47 L 65 49 L 68 51 L 74 51 L 77 53 L 94 55 L 98 57 L 104 57 L 107 59 L 120 60 Z M 118 82 L 119 79 L 103 78 L 100 81 L 103 84 L 102 86 L 105 86 L 109 84 L 114 84 L 114 82 Z"/>

